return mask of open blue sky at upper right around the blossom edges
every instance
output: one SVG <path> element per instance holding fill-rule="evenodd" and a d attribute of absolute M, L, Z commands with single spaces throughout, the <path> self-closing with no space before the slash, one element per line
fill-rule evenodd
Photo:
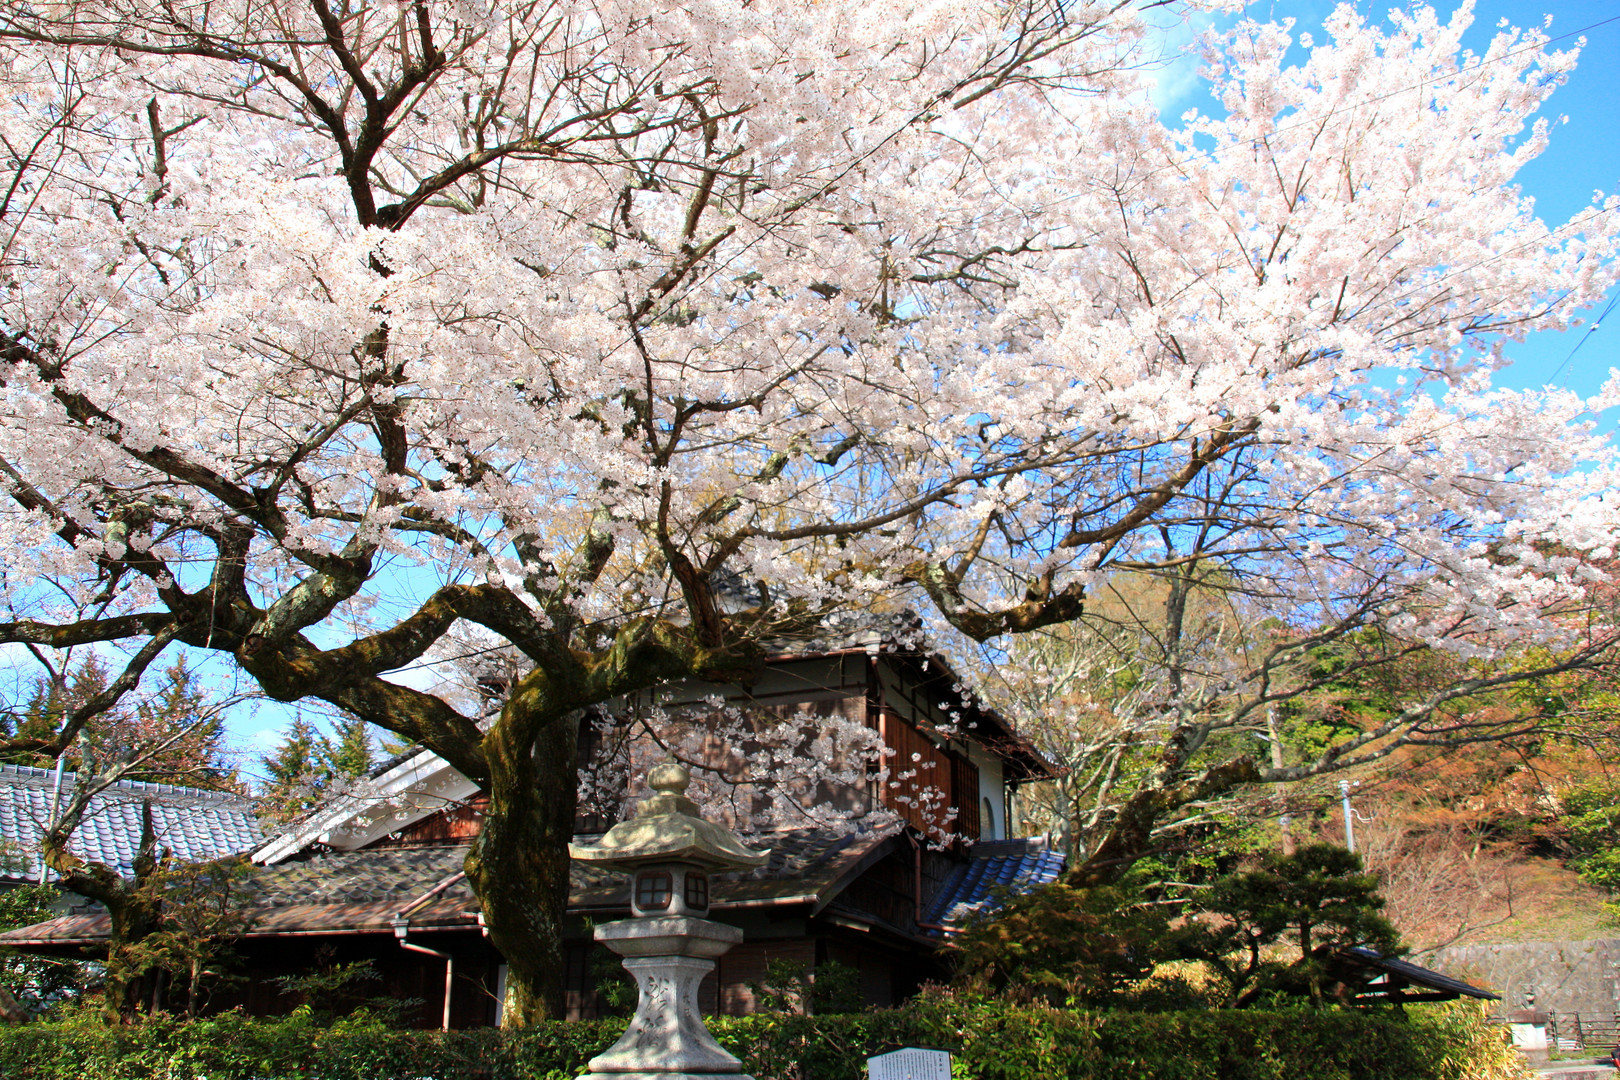
<path fill-rule="evenodd" d="M 1259 0 L 1246 16 L 1291 18 L 1298 36 L 1301 31 L 1319 31 L 1335 6 L 1333 0 Z M 1369 19 L 1382 19 L 1392 8 L 1405 5 L 1354 0 L 1354 6 Z M 1448 18 L 1458 3 L 1434 6 L 1442 18 Z M 1536 199 L 1542 220 L 1562 223 L 1591 206 L 1592 191 L 1607 194 L 1620 189 L 1620 0 L 1477 0 L 1474 24 L 1464 44 L 1474 52 L 1484 52 L 1497 34 L 1498 19 L 1529 28 L 1541 26 L 1545 16 L 1552 16 L 1547 34 L 1562 37 L 1552 47 L 1570 49 L 1575 37 L 1586 37 L 1580 66 L 1545 107 L 1545 115 L 1554 121 L 1560 115 L 1568 121 L 1554 123 L 1552 144 L 1520 173 L 1521 186 Z M 1233 21 L 1234 16 L 1202 19 L 1200 24 L 1225 26 Z M 1563 37 L 1567 34 L 1575 37 Z M 1320 39 L 1317 34 L 1317 40 Z M 1170 29 L 1166 42 L 1176 58 L 1158 76 L 1158 104 L 1166 120 L 1174 121 L 1184 108 L 1205 108 L 1213 102 L 1197 81 L 1192 28 Z M 1609 300 L 1615 300 L 1615 293 Z M 1534 334 L 1523 343 L 1510 345 L 1508 356 L 1513 363 L 1498 374 L 1497 382 L 1513 389 L 1541 389 L 1550 384 L 1583 395 L 1596 392 L 1609 377 L 1609 369 L 1620 366 L 1620 304 L 1610 313 L 1607 327 L 1591 330 L 1589 324 L 1601 311 L 1602 308 L 1586 313 L 1586 327 Z M 1614 426 L 1612 419 L 1609 426 Z"/>

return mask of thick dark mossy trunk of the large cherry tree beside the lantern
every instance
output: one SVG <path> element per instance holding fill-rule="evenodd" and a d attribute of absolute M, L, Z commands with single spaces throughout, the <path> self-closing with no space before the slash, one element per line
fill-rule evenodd
<path fill-rule="evenodd" d="M 467 853 L 467 879 L 489 941 L 507 962 L 501 1025 L 518 1028 L 564 1012 L 562 921 L 569 907 L 569 840 L 578 800 L 578 714 L 546 722 L 528 746 L 489 753 L 489 806 Z"/>

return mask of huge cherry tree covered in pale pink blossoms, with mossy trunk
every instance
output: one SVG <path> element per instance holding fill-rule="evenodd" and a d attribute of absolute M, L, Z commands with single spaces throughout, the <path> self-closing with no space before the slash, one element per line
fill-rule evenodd
<path fill-rule="evenodd" d="M 1617 275 L 1612 199 L 1511 186 L 1573 53 L 1244 23 L 1171 128 L 1157 6 L 8 6 L 0 641 L 212 651 L 475 779 L 518 1023 L 585 709 L 842 609 L 988 641 L 1218 567 L 1280 656 L 1581 662 L 1607 393 L 1490 387 Z M 467 623 L 491 716 L 389 677 Z"/>

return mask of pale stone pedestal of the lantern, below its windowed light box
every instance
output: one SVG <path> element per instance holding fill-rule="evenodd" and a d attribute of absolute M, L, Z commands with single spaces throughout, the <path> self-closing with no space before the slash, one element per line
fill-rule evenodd
<path fill-rule="evenodd" d="M 698 984 L 714 957 L 742 941 L 740 929 L 687 915 L 627 918 L 598 926 L 596 941 L 624 957 L 640 1001 L 630 1027 L 582 1080 L 752 1080 L 698 1010 Z"/>

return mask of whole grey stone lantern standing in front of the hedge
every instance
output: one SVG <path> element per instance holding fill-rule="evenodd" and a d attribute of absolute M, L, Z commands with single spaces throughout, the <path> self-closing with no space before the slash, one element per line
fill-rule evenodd
<path fill-rule="evenodd" d="M 640 989 L 630 1027 L 591 1059 L 582 1080 L 735 1077 L 742 1062 L 703 1027 L 698 983 L 714 970 L 714 957 L 742 941 L 742 931 L 703 916 L 710 874 L 760 866 L 770 852 L 750 850 L 729 829 L 700 818 L 685 795 L 692 776 L 682 766 L 654 766 L 646 782 L 654 793 L 635 818 L 595 845 L 569 845 L 580 863 L 632 874 L 633 918 L 603 923 L 596 941 L 624 957 Z"/>

